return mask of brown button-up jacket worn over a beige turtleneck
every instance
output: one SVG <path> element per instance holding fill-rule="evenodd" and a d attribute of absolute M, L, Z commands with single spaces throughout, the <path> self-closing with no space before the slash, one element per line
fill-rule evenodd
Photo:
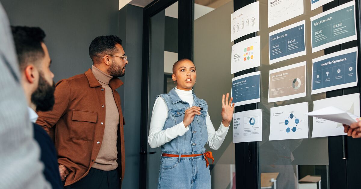
<path fill-rule="evenodd" d="M 119 111 L 118 172 L 122 178 L 125 170 L 123 113 L 116 89 L 123 85 L 117 77 L 109 81 Z M 79 181 L 89 172 L 103 140 L 105 125 L 105 90 L 91 69 L 59 81 L 55 89 L 52 111 L 37 112 L 37 124 L 51 136 L 55 131 L 55 148 L 58 163 L 69 170 L 65 185 Z M 123 179 L 120 179 L 122 181 Z M 120 183 L 121 186 L 121 183 Z"/>

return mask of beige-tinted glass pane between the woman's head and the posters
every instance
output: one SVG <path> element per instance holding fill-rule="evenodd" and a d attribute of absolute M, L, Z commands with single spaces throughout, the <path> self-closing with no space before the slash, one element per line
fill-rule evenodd
<path fill-rule="evenodd" d="M 233 13 L 233 1 L 212 8 L 210 12 L 203 13 L 203 16 L 198 18 L 197 7 L 200 5 L 195 5 L 193 53 L 197 68 L 197 84 L 193 90 L 197 97 L 206 100 L 210 119 L 217 130 L 222 121 L 222 95 L 231 93 L 231 80 L 234 77 L 230 74 L 233 45 L 230 38 L 230 15 Z M 214 189 L 235 188 L 236 160 L 231 128 L 230 125 L 226 139 L 218 150 L 211 150 L 206 145 L 206 151 L 212 151 L 215 159 L 210 167 Z"/>

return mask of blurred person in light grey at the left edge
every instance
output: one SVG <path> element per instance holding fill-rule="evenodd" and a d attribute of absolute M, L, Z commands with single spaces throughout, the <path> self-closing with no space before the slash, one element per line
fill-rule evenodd
<path fill-rule="evenodd" d="M 0 4 L 0 189 L 47 189 L 8 18 Z"/>

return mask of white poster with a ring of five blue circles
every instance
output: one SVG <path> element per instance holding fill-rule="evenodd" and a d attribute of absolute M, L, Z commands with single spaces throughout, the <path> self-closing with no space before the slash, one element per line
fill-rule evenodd
<path fill-rule="evenodd" d="M 271 108 L 270 141 L 308 138 L 308 103 Z"/>

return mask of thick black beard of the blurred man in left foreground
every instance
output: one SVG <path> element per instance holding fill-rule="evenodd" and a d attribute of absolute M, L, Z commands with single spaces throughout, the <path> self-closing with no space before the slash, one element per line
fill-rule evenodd
<path fill-rule="evenodd" d="M 43 77 L 43 73 L 39 72 L 38 88 L 31 94 L 31 102 L 35 104 L 36 111 L 49 111 L 53 109 L 55 98 L 55 83 L 50 85 Z"/>

